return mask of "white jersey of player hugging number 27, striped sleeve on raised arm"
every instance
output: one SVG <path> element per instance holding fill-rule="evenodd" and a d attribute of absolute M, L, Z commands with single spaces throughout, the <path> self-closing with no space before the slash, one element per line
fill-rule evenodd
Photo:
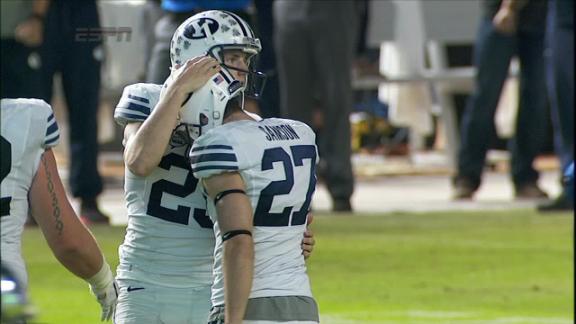
<path fill-rule="evenodd" d="M 114 118 L 122 125 L 143 122 L 158 103 L 160 90 L 157 84 L 127 86 Z M 118 279 L 178 288 L 212 282 L 213 224 L 190 168 L 189 148 L 181 127 L 150 175 L 140 177 L 126 168 L 128 227 L 119 248 Z"/>

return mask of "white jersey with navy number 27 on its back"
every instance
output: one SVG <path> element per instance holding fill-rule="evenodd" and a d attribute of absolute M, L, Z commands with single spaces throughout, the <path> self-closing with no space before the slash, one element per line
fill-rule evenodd
<path fill-rule="evenodd" d="M 288 119 L 242 120 L 211 129 L 190 151 L 200 179 L 237 171 L 254 210 L 254 281 L 250 298 L 312 296 L 301 242 L 316 188 L 316 135 Z M 210 217 L 216 221 L 213 201 Z M 213 305 L 224 303 L 222 234 L 216 236 Z"/>

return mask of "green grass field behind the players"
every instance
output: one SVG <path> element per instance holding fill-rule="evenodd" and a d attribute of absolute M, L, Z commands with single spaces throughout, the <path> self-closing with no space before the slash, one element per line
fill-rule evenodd
<path fill-rule="evenodd" d="M 573 323 L 572 214 L 316 214 L 308 261 L 322 323 Z M 94 227 L 111 266 L 122 227 Z M 86 283 L 24 233 L 38 323 L 98 323 Z M 150 305 L 153 307 L 153 305 Z"/>

